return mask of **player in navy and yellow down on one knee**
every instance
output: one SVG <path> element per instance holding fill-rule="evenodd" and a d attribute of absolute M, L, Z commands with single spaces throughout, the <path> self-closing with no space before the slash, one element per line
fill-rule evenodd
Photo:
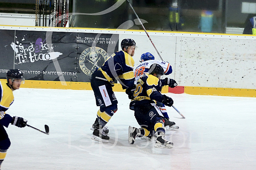
<path fill-rule="evenodd" d="M 174 101 L 171 97 L 162 95 L 159 91 L 165 85 L 161 80 L 164 69 L 159 64 L 152 64 L 149 74 L 143 74 L 139 78 L 134 91 L 134 99 L 131 100 L 130 108 L 134 110 L 134 116 L 141 126 L 135 128 L 129 126 L 128 142 L 134 144 L 136 136 L 148 136 L 152 129 L 156 132 L 156 148 L 172 148 L 173 143 L 165 140 L 164 116 L 155 101 L 161 102 L 169 107 Z"/>

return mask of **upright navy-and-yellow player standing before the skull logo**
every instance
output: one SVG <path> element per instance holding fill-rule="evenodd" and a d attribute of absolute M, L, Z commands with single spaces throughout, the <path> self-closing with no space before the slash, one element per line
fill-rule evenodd
<path fill-rule="evenodd" d="M 97 106 L 97 118 L 92 125 L 92 139 L 100 142 L 108 142 L 109 130 L 105 126 L 117 111 L 117 98 L 112 90 L 114 79 L 121 83 L 123 89 L 134 87 L 134 56 L 136 43 L 133 39 L 123 39 L 122 51 L 113 53 L 104 65 L 95 70 L 91 77 L 91 87 L 94 91 Z"/>

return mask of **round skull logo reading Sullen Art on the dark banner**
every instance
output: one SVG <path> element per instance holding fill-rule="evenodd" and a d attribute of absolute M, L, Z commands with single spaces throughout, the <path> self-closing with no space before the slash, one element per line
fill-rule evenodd
<path fill-rule="evenodd" d="M 91 76 L 97 67 L 101 67 L 108 58 L 108 53 L 97 46 L 85 49 L 79 57 L 79 66 L 84 74 Z"/>

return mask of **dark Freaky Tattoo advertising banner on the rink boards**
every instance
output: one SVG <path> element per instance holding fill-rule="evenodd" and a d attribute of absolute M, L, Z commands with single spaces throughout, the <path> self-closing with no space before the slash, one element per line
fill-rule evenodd
<path fill-rule="evenodd" d="M 6 61 L 0 77 L 20 69 L 26 80 L 90 82 L 94 70 L 118 51 L 115 34 L 1 30 L 0 35 Z"/>

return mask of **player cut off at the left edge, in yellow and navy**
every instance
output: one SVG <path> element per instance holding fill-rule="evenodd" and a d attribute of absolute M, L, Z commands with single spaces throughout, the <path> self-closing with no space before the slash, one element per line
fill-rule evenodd
<path fill-rule="evenodd" d="M 6 111 L 14 101 L 13 91 L 20 89 L 20 85 L 24 83 L 23 74 L 18 69 L 11 69 L 7 72 L 6 79 L 6 84 L 2 84 L 0 81 L 0 168 L 7 149 L 11 145 L 4 126 L 8 128 L 9 124 L 12 124 L 19 128 L 24 128 L 27 124 L 26 119 L 17 116 L 11 117 L 6 114 Z"/>

